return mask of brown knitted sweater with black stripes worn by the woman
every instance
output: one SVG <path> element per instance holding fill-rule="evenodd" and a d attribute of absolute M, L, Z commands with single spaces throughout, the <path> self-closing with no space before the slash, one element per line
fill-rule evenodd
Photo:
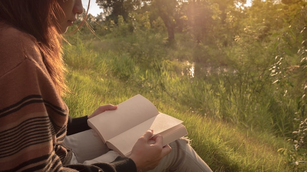
<path fill-rule="evenodd" d="M 129 158 L 68 165 L 67 123 L 35 38 L 0 22 L 0 172 L 136 171 Z"/>

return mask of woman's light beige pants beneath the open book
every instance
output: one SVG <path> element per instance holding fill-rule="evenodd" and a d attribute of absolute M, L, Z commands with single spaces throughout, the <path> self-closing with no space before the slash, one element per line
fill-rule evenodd
<path fill-rule="evenodd" d="M 66 136 L 64 142 L 74 152 L 71 164 L 112 162 L 120 156 L 115 151 L 109 151 L 92 129 Z M 180 138 L 170 143 L 172 152 L 162 158 L 159 165 L 149 172 L 212 172 L 189 142 L 188 139 Z"/>

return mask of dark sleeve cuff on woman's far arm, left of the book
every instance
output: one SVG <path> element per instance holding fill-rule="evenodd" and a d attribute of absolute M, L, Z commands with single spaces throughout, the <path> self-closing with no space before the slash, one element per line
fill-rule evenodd
<path fill-rule="evenodd" d="M 66 135 L 76 134 L 81 131 L 91 129 L 87 125 L 87 116 L 82 116 L 78 118 L 68 117 L 67 123 L 67 133 Z"/>

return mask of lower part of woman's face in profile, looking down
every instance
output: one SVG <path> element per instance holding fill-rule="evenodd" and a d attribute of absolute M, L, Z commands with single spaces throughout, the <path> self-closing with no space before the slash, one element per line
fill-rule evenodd
<path fill-rule="evenodd" d="M 59 33 L 65 33 L 67 28 L 73 25 L 77 20 L 77 14 L 83 13 L 83 6 L 81 0 L 58 0 L 60 7 L 64 14 L 58 17 Z"/>

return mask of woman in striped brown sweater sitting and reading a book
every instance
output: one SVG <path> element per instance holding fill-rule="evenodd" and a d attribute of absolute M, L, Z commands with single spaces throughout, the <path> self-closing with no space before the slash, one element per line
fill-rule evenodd
<path fill-rule="evenodd" d="M 90 116 L 71 119 L 61 98 L 67 91 L 61 34 L 82 12 L 81 0 L 0 0 L 0 171 L 211 172 L 185 139 L 171 148 L 155 136 L 149 145 L 152 130 L 130 157 L 113 152 L 112 162 L 76 161 L 65 137 L 69 143 L 88 131 L 88 118 L 117 108 L 101 106 Z"/>

